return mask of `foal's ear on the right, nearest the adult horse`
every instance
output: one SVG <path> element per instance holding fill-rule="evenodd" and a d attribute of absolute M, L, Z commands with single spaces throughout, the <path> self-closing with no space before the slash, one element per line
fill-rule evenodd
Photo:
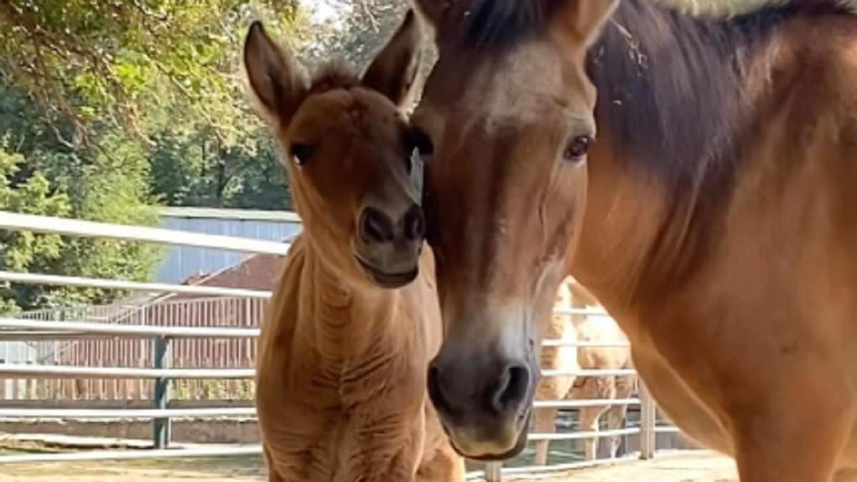
<path fill-rule="evenodd" d="M 404 106 L 411 97 L 417 78 L 422 57 L 422 37 L 417 15 L 414 15 L 413 9 L 409 9 L 399 30 L 363 74 L 363 87 L 384 94 L 395 105 Z"/>

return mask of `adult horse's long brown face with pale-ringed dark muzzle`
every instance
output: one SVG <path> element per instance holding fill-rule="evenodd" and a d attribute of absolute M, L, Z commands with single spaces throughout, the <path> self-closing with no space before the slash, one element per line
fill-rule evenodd
<path fill-rule="evenodd" d="M 444 344 L 428 389 L 452 443 L 526 441 L 538 346 L 579 232 L 595 136 L 589 45 L 616 0 L 419 0 L 440 51 L 412 119 Z M 430 140 L 430 142 L 428 142 Z"/>

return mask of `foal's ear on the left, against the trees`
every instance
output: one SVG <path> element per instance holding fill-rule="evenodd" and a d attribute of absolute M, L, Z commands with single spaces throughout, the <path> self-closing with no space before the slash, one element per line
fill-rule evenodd
<path fill-rule="evenodd" d="M 268 122 L 287 124 L 309 89 L 303 67 L 291 52 L 268 36 L 254 21 L 244 41 L 244 68 L 258 104 Z"/>

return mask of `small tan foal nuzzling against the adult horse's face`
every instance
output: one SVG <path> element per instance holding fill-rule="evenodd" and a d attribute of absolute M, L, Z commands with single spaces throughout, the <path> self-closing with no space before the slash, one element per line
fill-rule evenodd
<path fill-rule="evenodd" d="M 425 388 L 440 312 L 400 113 L 420 37 L 411 13 L 362 79 L 328 66 L 309 80 L 250 27 L 249 83 L 303 220 L 259 340 L 272 481 L 464 479 Z"/>

